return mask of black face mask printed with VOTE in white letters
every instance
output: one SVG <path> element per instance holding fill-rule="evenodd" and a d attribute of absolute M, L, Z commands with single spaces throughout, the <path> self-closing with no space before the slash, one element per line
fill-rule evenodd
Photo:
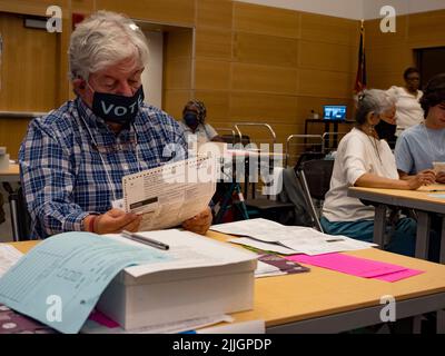
<path fill-rule="evenodd" d="M 127 125 L 135 121 L 139 107 L 144 101 L 142 86 L 132 97 L 97 92 L 92 97 L 92 112 L 105 121 Z"/>

